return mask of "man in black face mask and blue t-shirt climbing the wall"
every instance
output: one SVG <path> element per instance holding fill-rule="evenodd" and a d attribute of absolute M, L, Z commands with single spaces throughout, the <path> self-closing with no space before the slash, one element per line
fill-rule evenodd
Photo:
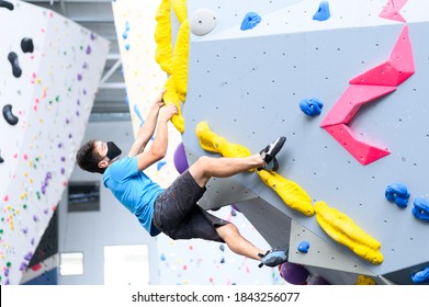
<path fill-rule="evenodd" d="M 103 174 L 104 185 L 153 237 L 162 231 L 172 239 L 225 242 L 235 253 L 261 261 L 259 266 L 276 266 L 285 262 L 287 248 L 263 251 L 247 241 L 234 224 L 211 215 L 196 204 L 212 177 L 226 178 L 251 169 L 276 170 L 275 155 L 283 147 L 285 137 L 245 158 L 201 157 L 169 187 L 161 189 L 144 170 L 167 152 L 168 122 L 177 113 L 177 107 L 173 104 L 165 106 L 162 95 L 163 92 L 151 105 L 127 157 L 120 159 L 122 150 L 113 141 L 91 139 L 76 155 L 79 167 Z M 160 112 L 161 107 L 163 112 Z M 155 130 L 157 134 L 147 148 Z"/>

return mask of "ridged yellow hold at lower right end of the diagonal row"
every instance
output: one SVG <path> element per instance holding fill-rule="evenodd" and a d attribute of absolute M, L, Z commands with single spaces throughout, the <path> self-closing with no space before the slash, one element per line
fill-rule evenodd
<path fill-rule="evenodd" d="M 321 201 L 315 203 L 314 209 L 317 223 L 329 237 L 373 264 L 383 262 L 381 243 L 363 231 L 350 217 L 336 208 L 330 208 Z"/>

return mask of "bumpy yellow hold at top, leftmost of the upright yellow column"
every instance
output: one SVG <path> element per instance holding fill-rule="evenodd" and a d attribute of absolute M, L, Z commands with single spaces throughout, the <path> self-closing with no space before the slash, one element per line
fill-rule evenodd
<path fill-rule="evenodd" d="M 158 7 L 155 29 L 155 59 L 167 73 L 172 73 L 170 0 L 162 0 Z"/>

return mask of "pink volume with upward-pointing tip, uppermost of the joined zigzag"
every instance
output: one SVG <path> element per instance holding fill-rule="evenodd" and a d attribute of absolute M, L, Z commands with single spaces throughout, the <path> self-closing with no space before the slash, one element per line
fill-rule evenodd
<path fill-rule="evenodd" d="M 351 79 L 350 84 L 397 87 L 416 71 L 408 26 L 404 26 L 387 61 Z"/>

